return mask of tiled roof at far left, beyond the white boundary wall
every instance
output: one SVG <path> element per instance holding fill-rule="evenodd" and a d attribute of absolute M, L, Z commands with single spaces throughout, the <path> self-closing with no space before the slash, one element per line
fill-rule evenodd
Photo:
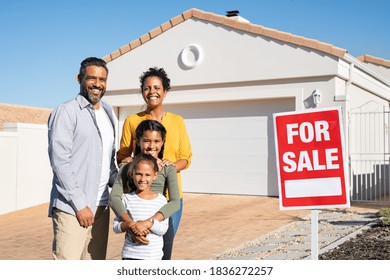
<path fill-rule="evenodd" d="M 0 103 L 0 130 L 4 123 L 46 124 L 52 109 Z"/>

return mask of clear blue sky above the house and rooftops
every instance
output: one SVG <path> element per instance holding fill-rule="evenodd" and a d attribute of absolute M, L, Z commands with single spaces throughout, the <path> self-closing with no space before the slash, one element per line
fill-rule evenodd
<path fill-rule="evenodd" d="M 388 0 L 0 0 L 0 103 L 54 108 L 104 57 L 190 8 L 390 60 Z"/>

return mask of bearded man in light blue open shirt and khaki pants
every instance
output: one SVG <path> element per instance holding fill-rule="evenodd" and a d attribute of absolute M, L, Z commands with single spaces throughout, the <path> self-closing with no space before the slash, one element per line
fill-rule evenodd
<path fill-rule="evenodd" d="M 111 106 L 101 101 L 108 69 L 104 60 L 81 62 L 80 93 L 59 105 L 48 121 L 53 169 L 49 217 L 53 221 L 54 259 L 105 259 L 109 191 L 117 175 Z"/>

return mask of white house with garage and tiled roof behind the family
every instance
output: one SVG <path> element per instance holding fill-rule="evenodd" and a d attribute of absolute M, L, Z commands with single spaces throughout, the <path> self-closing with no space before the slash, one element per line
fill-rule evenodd
<path fill-rule="evenodd" d="M 351 113 L 371 111 L 373 104 L 382 114 L 389 110 L 390 61 L 358 59 L 345 49 L 251 23 L 238 13 L 198 9 L 104 59 L 110 69 L 105 99 L 115 107 L 120 127 L 127 115 L 143 110 L 139 76 L 152 66 L 167 71 L 172 90 L 165 108 L 184 117 L 193 148 L 192 164 L 182 172 L 185 192 L 278 196 L 273 131 L 278 112 L 342 108 L 349 157 L 356 160 L 350 163 L 355 190 L 377 188 L 363 179 L 383 177 L 388 166 L 385 161 L 379 169 L 372 163 L 367 170 L 353 167 L 369 160 L 363 144 L 374 135 L 352 123 Z M 387 123 L 379 125 L 384 139 Z M 387 148 L 381 148 L 382 156 Z"/>

